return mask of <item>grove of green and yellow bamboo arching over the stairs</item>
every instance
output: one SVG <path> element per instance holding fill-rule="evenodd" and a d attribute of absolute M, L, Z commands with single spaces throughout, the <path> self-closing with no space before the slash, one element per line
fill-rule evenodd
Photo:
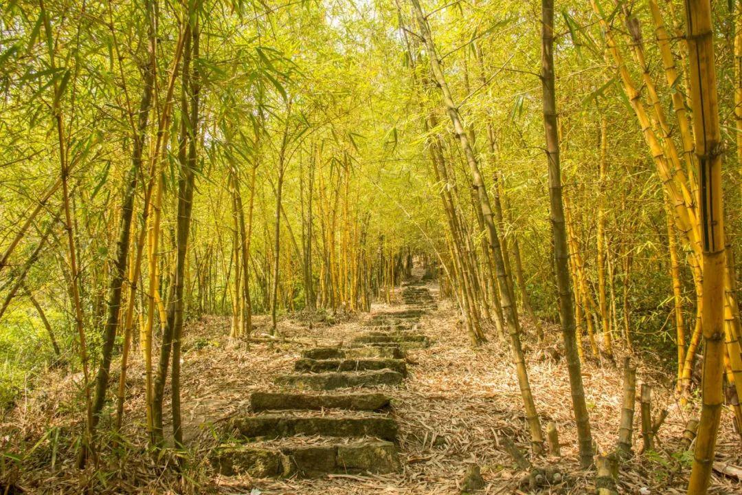
<path fill-rule="evenodd" d="M 134 364 L 149 441 L 187 447 L 188 323 L 275 341 L 286 313 L 391 301 L 413 257 L 474 347 L 508 349 L 534 453 L 523 341 L 552 323 L 583 468 L 580 367 L 619 349 L 700 410 L 689 493 L 723 408 L 742 432 L 741 1 L 18 0 L 0 22 L 0 325 L 81 373 L 80 467 Z"/>

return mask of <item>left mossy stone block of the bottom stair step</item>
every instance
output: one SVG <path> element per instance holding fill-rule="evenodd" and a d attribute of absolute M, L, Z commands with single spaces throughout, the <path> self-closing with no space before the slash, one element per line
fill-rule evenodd
<path fill-rule="evenodd" d="M 289 476 L 291 466 L 277 449 L 252 445 L 221 445 L 209 457 L 214 469 L 224 476 L 249 474 L 254 478 Z"/>

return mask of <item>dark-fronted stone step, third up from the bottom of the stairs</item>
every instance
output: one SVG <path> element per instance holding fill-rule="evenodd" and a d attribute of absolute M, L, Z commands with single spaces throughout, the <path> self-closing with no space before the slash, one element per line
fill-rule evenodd
<path fill-rule="evenodd" d="M 383 393 L 308 394 L 253 392 L 250 407 L 254 411 L 281 409 L 347 409 L 380 411 L 390 406 L 389 396 Z"/>

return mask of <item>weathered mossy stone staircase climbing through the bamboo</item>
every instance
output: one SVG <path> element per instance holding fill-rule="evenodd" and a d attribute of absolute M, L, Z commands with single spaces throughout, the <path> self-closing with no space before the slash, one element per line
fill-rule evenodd
<path fill-rule="evenodd" d="M 388 393 L 407 376 L 405 351 L 430 345 L 417 324 L 437 307 L 424 286 L 401 296 L 404 309 L 375 313 L 346 346 L 304 350 L 295 373 L 275 377 L 280 390 L 252 393 L 229 425 L 231 442 L 211 453 L 214 469 L 257 478 L 399 471 Z"/>

